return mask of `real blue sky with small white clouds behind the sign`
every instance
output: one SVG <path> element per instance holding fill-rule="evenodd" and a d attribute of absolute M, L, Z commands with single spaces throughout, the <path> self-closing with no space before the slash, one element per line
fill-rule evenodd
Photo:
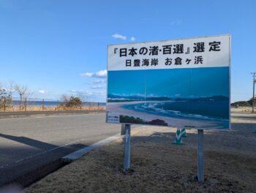
<path fill-rule="evenodd" d="M 105 101 L 107 45 L 232 35 L 232 101 L 252 97 L 256 1 L 0 0 L 0 82 Z"/>

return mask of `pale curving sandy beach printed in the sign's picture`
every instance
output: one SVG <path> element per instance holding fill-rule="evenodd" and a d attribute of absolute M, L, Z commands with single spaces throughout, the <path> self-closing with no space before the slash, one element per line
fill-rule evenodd
<path fill-rule="evenodd" d="M 156 103 L 157 101 L 147 101 L 146 103 Z M 143 104 L 142 101 L 133 102 L 108 102 L 107 112 L 118 113 L 122 116 L 133 116 L 135 118 L 141 118 L 143 121 L 152 121 L 154 119 L 160 119 L 165 121 L 168 126 L 182 128 L 184 126 L 194 126 L 193 128 L 202 129 L 227 129 L 223 128 L 223 121 L 205 119 L 205 118 L 173 118 L 167 116 L 158 116 L 152 113 L 139 112 L 136 110 L 130 110 L 124 107 L 124 105 Z"/>

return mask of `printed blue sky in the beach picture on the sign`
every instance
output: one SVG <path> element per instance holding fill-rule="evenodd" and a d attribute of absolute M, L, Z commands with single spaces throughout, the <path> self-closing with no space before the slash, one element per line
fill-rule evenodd
<path fill-rule="evenodd" d="M 108 94 L 143 96 L 146 92 L 146 96 L 175 98 L 229 96 L 228 72 L 228 67 L 110 71 Z"/>

